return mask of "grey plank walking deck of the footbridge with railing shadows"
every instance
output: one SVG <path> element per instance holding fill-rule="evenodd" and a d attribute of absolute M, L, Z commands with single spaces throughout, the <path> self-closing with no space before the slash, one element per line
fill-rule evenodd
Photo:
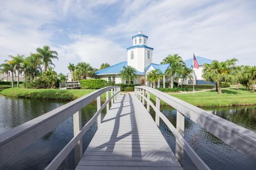
<path fill-rule="evenodd" d="M 76 169 L 183 168 L 147 109 L 125 94 L 104 117 Z"/>

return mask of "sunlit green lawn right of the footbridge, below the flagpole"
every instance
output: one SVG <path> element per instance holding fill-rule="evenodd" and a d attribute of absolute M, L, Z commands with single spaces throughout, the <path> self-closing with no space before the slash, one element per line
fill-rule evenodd
<path fill-rule="evenodd" d="M 251 90 L 241 88 L 238 91 L 234 88 L 222 89 L 222 95 L 218 95 L 215 90 L 198 92 L 193 94 L 169 94 L 181 100 L 187 101 L 195 106 L 239 106 L 255 105 L 256 93 L 252 94 Z"/>

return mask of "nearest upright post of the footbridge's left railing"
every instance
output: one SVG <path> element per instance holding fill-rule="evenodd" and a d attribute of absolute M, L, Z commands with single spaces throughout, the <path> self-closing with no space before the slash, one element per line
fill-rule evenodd
<path fill-rule="evenodd" d="M 78 111 L 75 114 L 73 114 L 73 129 L 74 129 L 74 137 L 75 137 L 82 129 L 81 111 Z M 82 139 L 77 142 L 74 148 L 74 151 L 75 151 L 75 165 L 77 165 L 79 160 L 83 156 Z"/>

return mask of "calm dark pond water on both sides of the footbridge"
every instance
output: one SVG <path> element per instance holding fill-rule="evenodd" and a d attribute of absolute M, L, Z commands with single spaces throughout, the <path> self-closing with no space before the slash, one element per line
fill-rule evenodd
<path fill-rule="evenodd" d="M 25 123 L 35 117 L 57 108 L 65 102 L 37 99 L 17 99 L 0 96 L 0 133 Z M 162 112 L 175 126 L 176 111 L 171 107 L 161 107 Z M 203 108 L 231 122 L 256 131 L 256 107 Z M 88 105 L 82 111 L 84 125 L 96 112 L 97 106 Z M 105 112 L 103 112 L 103 115 Z M 154 117 L 154 113 L 151 115 Z M 185 138 L 211 169 L 255 169 L 256 163 L 244 157 L 197 124 L 185 120 Z M 160 129 L 175 151 L 175 138 L 167 126 L 161 122 Z M 97 124 L 84 135 L 83 149 L 89 145 L 97 130 Z M 73 120 L 68 118 L 53 131 L 39 139 L 34 145 L 22 151 L 0 169 L 44 169 L 58 152 L 73 138 Z M 59 169 L 74 169 L 74 151 L 63 161 Z M 196 169 L 185 154 L 184 169 Z"/>

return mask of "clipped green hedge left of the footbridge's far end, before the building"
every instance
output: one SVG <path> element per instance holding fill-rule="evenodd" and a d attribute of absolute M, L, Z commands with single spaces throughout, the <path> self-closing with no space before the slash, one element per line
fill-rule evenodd
<path fill-rule="evenodd" d="M 81 89 L 101 89 L 112 84 L 112 82 L 103 79 L 85 79 L 80 81 Z"/>

